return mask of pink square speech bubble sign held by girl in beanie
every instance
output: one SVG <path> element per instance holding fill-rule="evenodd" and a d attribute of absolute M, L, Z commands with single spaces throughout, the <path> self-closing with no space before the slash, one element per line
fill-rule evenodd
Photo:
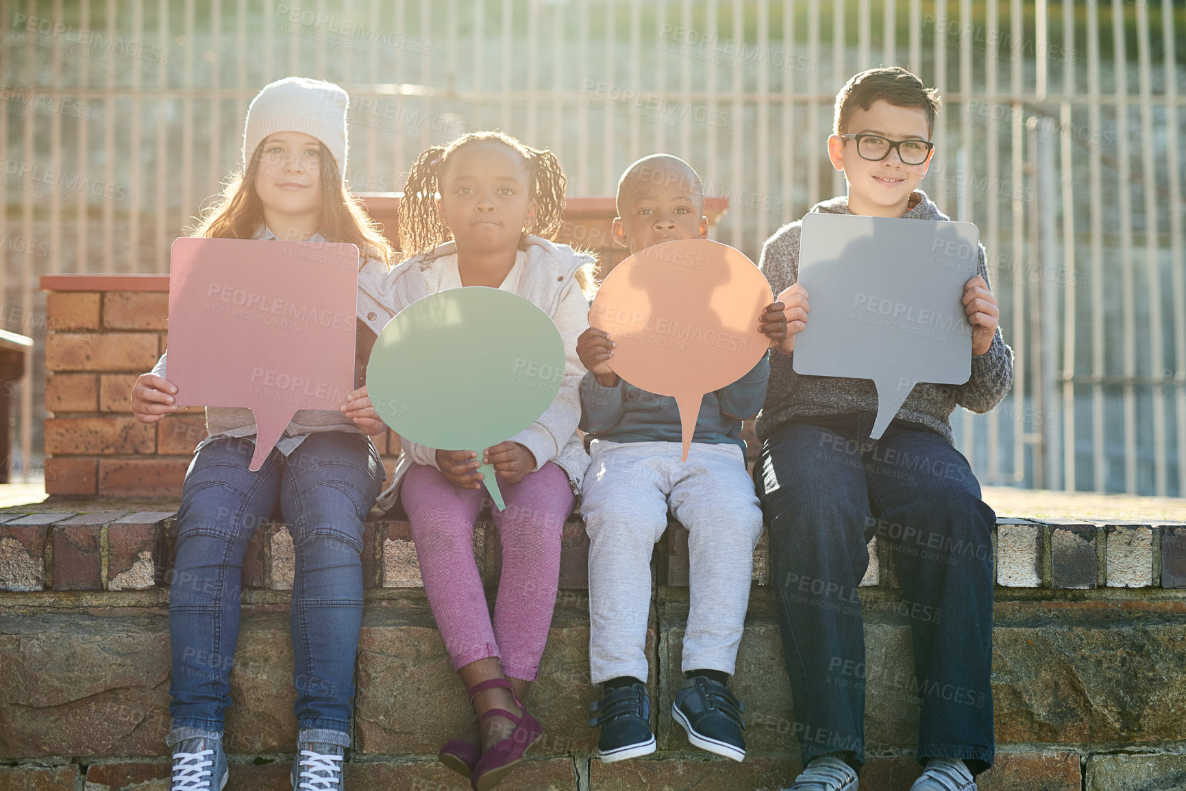
<path fill-rule="evenodd" d="M 249 407 L 259 470 L 298 409 L 353 389 L 358 248 L 179 238 L 168 280 L 168 381 L 177 404 Z"/>

